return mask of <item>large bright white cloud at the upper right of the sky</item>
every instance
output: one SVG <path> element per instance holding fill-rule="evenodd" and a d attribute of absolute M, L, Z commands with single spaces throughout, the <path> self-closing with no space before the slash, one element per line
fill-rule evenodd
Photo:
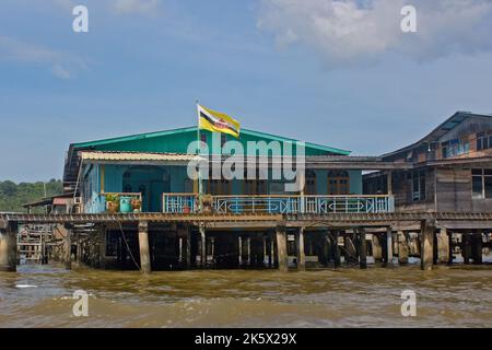
<path fill-rule="evenodd" d="M 400 10 L 417 8 L 418 33 L 402 33 Z M 258 27 L 279 46 L 301 43 L 330 63 L 400 52 L 422 60 L 492 50 L 491 0 L 262 0 Z"/>

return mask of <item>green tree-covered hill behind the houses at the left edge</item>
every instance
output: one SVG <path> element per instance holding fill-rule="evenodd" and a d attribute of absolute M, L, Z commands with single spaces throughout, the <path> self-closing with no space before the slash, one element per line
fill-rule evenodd
<path fill-rule="evenodd" d="M 46 197 L 60 195 L 63 186 L 60 180 L 51 179 L 46 184 Z M 39 200 L 45 197 L 44 184 L 0 182 L 0 211 L 24 212 L 22 205 Z"/>

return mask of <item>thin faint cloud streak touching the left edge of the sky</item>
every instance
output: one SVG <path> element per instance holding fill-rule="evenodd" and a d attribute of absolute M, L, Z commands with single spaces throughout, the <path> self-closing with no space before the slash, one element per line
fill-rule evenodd
<path fill-rule="evenodd" d="M 42 63 L 60 79 L 72 78 L 74 72 L 86 68 L 83 60 L 72 55 L 3 35 L 0 35 L 0 60 Z"/>

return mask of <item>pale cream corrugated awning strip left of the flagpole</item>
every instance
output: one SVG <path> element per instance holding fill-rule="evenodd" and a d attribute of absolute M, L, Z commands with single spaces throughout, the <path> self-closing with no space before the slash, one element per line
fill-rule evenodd
<path fill-rule="evenodd" d="M 189 162 L 196 158 L 194 154 L 179 153 L 143 153 L 143 152 L 94 152 L 83 151 L 80 153 L 83 161 L 108 161 L 108 162 Z"/>

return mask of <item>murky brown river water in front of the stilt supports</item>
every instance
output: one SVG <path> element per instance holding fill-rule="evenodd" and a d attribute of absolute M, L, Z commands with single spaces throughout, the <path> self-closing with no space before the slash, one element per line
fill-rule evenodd
<path fill-rule="evenodd" d="M 418 316 L 402 317 L 402 290 Z M 89 294 L 74 317 L 73 291 Z M 359 270 L 0 272 L 0 327 L 492 327 L 492 267 Z"/>

